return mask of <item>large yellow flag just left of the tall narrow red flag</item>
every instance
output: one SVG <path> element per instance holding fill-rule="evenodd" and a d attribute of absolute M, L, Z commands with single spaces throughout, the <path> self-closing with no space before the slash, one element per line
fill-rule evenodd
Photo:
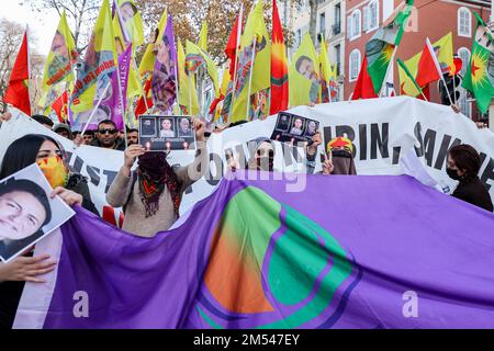
<path fill-rule="evenodd" d="M 247 120 L 247 109 L 251 109 L 250 97 L 271 87 L 271 42 L 263 19 L 262 0 L 250 12 L 240 44 L 232 122 Z"/>

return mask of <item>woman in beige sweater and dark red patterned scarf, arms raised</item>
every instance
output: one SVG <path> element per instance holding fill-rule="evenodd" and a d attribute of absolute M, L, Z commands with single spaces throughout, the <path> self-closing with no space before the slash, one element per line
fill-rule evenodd
<path fill-rule="evenodd" d="M 204 124 L 195 120 L 194 129 L 198 152 L 187 167 L 173 169 L 166 152 L 146 151 L 141 145 L 125 150 L 124 165 L 106 194 L 110 205 L 124 207 L 123 230 L 153 237 L 179 218 L 183 192 L 201 179 L 209 165 Z M 137 170 L 132 171 L 137 158 Z"/>

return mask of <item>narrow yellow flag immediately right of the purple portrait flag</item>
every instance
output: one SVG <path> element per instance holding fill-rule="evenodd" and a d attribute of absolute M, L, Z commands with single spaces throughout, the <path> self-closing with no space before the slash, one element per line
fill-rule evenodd
<path fill-rule="evenodd" d="M 195 78 L 193 75 L 186 72 L 186 52 L 182 43 L 179 41 L 177 45 L 177 59 L 179 69 L 179 101 L 181 105 L 187 107 L 187 114 L 199 114 L 198 92 L 195 91 Z M 192 107 L 191 107 L 192 102 Z"/>

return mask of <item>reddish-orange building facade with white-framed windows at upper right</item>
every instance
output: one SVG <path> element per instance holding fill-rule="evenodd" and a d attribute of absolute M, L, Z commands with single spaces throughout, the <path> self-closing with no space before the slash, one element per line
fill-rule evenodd
<path fill-rule="evenodd" d="M 353 92 L 355 83 L 360 72 L 360 67 L 366 53 L 366 44 L 382 26 L 383 22 L 393 13 L 401 3 L 398 0 L 347 0 L 346 22 L 347 33 L 345 37 L 345 100 Z M 412 11 L 408 27 L 396 50 L 396 57 L 407 60 L 422 52 L 428 37 L 431 43 L 452 32 L 453 53 L 463 61 L 461 73 L 467 71 L 470 60 L 470 52 L 475 31 L 475 16 L 479 13 L 489 23 L 491 15 L 491 2 L 472 0 L 416 0 Z M 460 73 L 460 75 L 461 75 Z M 394 91 L 400 93 L 397 67 L 390 73 L 394 82 Z M 467 92 L 459 88 L 460 100 L 457 102 L 469 117 L 479 120 L 481 116 Z M 430 100 L 439 102 L 437 87 L 430 89 Z"/>

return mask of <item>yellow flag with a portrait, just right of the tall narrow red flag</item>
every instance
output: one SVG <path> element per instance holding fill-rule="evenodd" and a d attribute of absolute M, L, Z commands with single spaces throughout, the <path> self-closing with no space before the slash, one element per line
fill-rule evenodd
<path fill-rule="evenodd" d="M 311 35 L 305 33 L 289 68 L 290 106 L 318 103 L 319 63 Z"/>

